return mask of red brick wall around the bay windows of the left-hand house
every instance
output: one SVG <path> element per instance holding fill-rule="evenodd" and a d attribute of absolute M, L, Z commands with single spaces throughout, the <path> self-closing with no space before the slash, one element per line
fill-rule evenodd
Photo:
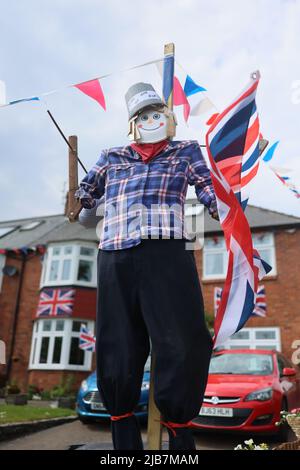
<path fill-rule="evenodd" d="M 21 261 L 7 258 L 7 264 L 21 268 Z M 29 384 L 43 387 L 45 390 L 58 385 L 61 378 L 72 374 L 73 371 L 28 371 L 33 319 L 36 314 L 36 307 L 39 300 L 39 286 L 41 277 L 40 256 L 34 256 L 26 261 L 23 274 L 23 285 L 20 296 L 20 307 L 16 330 L 16 340 L 13 352 L 13 362 L 10 374 L 10 381 L 15 381 L 22 391 L 26 391 Z M 0 294 L 0 339 L 6 343 L 7 359 L 11 350 L 11 337 L 13 328 L 13 316 L 16 304 L 16 295 L 20 277 L 3 277 L 2 290 Z M 86 303 L 84 301 L 86 299 Z M 74 317 L 95 319 L 96 311 L 96 289 L 76 289 Z M 81 310 L 79 310 L 79 307 Z M 81 315 L 79 315 L 79 313 Z M 75 315 L 76 313 L 76 315 Z M 0 386 L 1 379 L 5 374 L 5 366 L 0 366 Z M 95 364 L 93 364 L 93 369 Z M 89 372 L 75 371 L 75 388 L 89 375 Z"/>

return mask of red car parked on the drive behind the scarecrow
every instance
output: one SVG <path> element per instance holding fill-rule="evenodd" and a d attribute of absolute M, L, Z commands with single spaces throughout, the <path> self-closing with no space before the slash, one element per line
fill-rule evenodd
<path fill-rule="evenodd" d="M 193 420 L 202 429 L 279 433 L 281 410 L 300 406 L 300 373 L 275 350 L 213 354 L 204 401 Z"/>

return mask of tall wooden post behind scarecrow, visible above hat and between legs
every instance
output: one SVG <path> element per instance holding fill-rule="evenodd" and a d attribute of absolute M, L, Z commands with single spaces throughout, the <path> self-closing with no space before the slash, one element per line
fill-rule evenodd
<path fill-rule="evenodd" d="M 163 74 L 163 99 L 168 108 L 173 110 L 173 79 L 174 79 L 174 54 L 173 43 L 164 46 L 164 74 Z M 155 354 L 151 351 L 150 388 L 148 405 L 148 450 L 161 450 L 162 425 L 161 414 L 154 401 L 154 371 Z"/>

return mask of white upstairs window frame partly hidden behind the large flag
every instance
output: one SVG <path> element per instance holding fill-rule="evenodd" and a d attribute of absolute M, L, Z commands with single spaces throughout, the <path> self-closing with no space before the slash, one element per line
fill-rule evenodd
<path fill-rule="evenodd" d="M 265 278 L 270 277 L 270 276 L 275 276 L 277 274 L 277 266 L 276 266 L 276 249 L 275 249 L 275 237 L 273 232 L 262 232 L 265 235 L 270 236 L 270 243 L 268 244 L 259 244 L 255 243 L 255 248 L 258 250 L 260 253 L 260 249 L 269 249 L 271 253 L 271 261 L 270 264 L 272 266 L 272 270 L 265 276 Z M 252 233 L 252 236 L 255 237 L 259 235 L 259 233 L 254 232 Z M 218 236 L 218 240 L 223 240 L 223 236 Z M 213 240 L 213 237 L 207 237 L 206 240 Z M 206 272 L 206 257 L 209 254 L 223 254 L 223 267 L 224 271 L 223 273 L 217 273 L 217 274 L 207 274 Z M 263 258 L 263 256 L 262 256 Z M 227 265 L 228 265 L 228 253 L 226 250 L 225 246 L 225 241 L 223 243 L 223 247 L 213 247 L 213 246 L 205 246 L 205 240 L 204 240 L 204 247 L 203 247 L 203 256 L 202 256 L 202 279 L 203 280 L 215 280 L 215 279 L 225 279 L 226 278 L 226 273 L 227 273 Z"/>

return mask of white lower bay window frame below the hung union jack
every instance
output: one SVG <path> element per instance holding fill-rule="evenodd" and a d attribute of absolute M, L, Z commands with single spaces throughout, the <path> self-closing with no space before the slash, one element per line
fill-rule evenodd
<path fill-rule="evenodd" d="M 51 330 L 43 331 L 43 322 L 50 320 Z M 55 331 L 56 320 L 64 321 L 64 330 Z M 74 371 L 91 371 L 92 368 L 92 355 L 91 351 L 84 350 L 84 363 L 83 365 L 69 364 L 69 355 L 71 347 L 71 339 L 73 337 L 78 338 L 80 335 L 79 331 L 72 331 L 73 321 L 86 323 L 87 328 L 94 332 L 95 322 L 93 320 L 79 319 L 79 318 L 60 318 L 60 317 L 48 317 L 43 319 L 36 319 L 33 324 L 31 350 L 29 358 L 28 369 L 31 370 L 74 370 Z M 38 325 L 38 331 L 37 330 Z M 37 360 L 40 358 L 42 339 L 49 337 L 49 347 L 46 363 L 39 363 Z M 62 337 L 62 350 L 59 364 L 53 364 L 51 362 L 54 351 L 55 337 Z M 33 357 L 35 355 L 35 357 Z M 34 362 L 33 362 L 34 361 Z"/>

